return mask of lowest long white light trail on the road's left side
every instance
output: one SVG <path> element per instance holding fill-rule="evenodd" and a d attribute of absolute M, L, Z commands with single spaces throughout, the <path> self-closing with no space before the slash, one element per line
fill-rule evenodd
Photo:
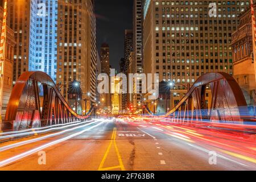
<path fill-rule="evenodd" d="M 97 125 L 89 127 L 88 129 L 84 129 L 84 130 L 82 130 L 80 132 L 77 132 L 75 134 L 69 135 L 68 137 L 64 137 L 64 138 L 61 138 L 61 139 L 54 140 L 53 142 L 49 142 L 49 143 L 43 144 L 42 146 L 36 147 L 36 148 L 34 148 L 34 149 L 30 150 L 30 151 L 23 152 L 22 154 L 13 156 L 13 157 L 11 157 L 9 159 L 2 160 L 2 161 L 0 161 L 0 167 L 6 166 L 7 164 L 10 164 L 10 163 L 13 163 L 16 160 L 20 160 L 22 158 L 25 158 L 26 156 L 29 156 L 31 154 L 34 154 L 35 152 L 43 150 L 44 148 L 48 148 L 48 147 L 53 146 L 53 145 L 55 145 L 57 143 L 64 142 L 65 140 L 68 140 L 68 139 L 71 139 L 71 138 L 76 137 L 78 135 L 81 135 L 82 133 L 85 133 L 85 131 L 91 130 L 94 127 L 97 127 L 97 126 L 101 125 L 102 123 L 103 122 L 100 122 Z"/>

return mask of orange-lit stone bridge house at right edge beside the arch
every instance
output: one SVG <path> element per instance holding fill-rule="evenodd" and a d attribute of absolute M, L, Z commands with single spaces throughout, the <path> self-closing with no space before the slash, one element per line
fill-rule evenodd
<path fill-rule="evenodd" d="M 256 10 L 256 4 L 254 4 L 254 10 Z M 233 77 L 240 85 L 247 105 L 255 105 L 256 82 L 254 64 L 256 63 L 253 60 L 251 9 L 245 10 L 239 19 L 240 26 L 232 34 Z"/>

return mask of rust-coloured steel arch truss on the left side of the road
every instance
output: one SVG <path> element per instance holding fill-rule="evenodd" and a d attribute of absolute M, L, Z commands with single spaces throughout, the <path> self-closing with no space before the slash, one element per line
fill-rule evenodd
<path fill-rule="evenodd" d="M 41 95 L 41 97 L 40 97 Z M 43 101 L 42 101 L 43 100 Z M 3 130 L 22 130 L 86 119 L 69 107 L 52 78 L 44 72 L 24 72 L 16 81 Z"/>

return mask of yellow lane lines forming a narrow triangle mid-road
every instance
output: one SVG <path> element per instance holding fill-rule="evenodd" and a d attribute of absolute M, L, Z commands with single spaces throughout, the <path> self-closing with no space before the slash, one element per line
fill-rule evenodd
<path fill-rule="evenodd" d="M 108 146 L 108 148 L 107 148 L 107 150 L 104 154 L 104 157 L 101 160 L 100 166 L 98 167 L 98 171 L 106 171 L 106 170 L 117 169 L 117 168 L 121 168 L 122 171 L 125 171 L 125 167 L 123 166 L 122 158 L 121 158 L 121 155 L 119 154 L 117 143 L 115 141 L 116 134 L 117 134 L 117 128 L 114 127 L 112 137 L 111 137 L 111 141 L 110 141 L 109 146 Z M 106 161 L 107 156 L 109 155 L 109 151 L 110 151 L 110 148 L 112 147 L 113 143 L 114 143 L 115 152 L 116 152 L 117 157 L 118 157 L 119 166 L 103 168 L 104 163 Z"/>

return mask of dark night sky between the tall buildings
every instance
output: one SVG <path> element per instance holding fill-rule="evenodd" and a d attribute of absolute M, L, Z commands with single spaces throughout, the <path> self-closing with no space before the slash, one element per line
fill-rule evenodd
<path fill-rule="evenodd" d="M 97 48 L 109 44 L 110 65 L 119 72 L 119 60 L 124 54 L 125 29 L 133 28 L 133 0 L 95 0 L 97 18 Z"/>

